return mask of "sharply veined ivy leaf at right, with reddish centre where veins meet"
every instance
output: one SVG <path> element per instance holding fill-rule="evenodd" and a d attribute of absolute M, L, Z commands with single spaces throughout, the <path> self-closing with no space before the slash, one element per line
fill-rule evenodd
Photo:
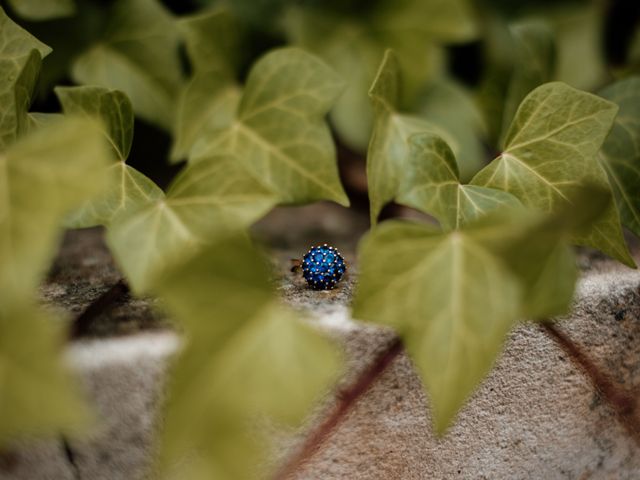
<path fill-rule="evenodd" d="M 586 184 L 610 192 L 597 153 L 616 112 L 615 104 L 560 82 L 538 87 L 520 105 L 503 153 L 471 184 L 504 190 L 545 212 L 565 208 L 571 193 Z M 613 204 L 573 241 L 635 266 Z"/>

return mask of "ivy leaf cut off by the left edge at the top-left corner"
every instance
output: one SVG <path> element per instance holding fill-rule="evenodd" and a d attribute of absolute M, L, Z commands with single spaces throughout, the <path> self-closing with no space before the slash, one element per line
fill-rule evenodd
<path fill-rule="evenodd" d="M 0 8 L 0 150 L 28 129 L 27 112 L 40 71 L 51 49 L 16 25 Z"/>

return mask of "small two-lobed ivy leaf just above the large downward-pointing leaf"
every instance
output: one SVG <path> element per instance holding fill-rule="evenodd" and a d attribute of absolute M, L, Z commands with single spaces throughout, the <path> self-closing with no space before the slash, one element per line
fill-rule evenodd
<path fill-rule="evenodd" d="M 451 148 L 431 133 L 409 139 L 407 174 L 398 202 L 438 219 L 447 230 L 458 229 L 494 210 L 521 208 L 510 193 L 476 185 L 462 185 Z"/>

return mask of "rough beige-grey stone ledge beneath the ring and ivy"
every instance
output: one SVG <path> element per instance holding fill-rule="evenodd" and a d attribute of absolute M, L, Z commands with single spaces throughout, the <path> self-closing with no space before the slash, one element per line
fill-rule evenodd
<path fill-rule="evenodd" d="M 311 312 L 314 321 L 344 343 L 347 369 L 340 386 L 345 386 L 384 349 L 393 332 L 350 318 L 347 305 L 355 279 L 353 270 L 339 288 L 328 292 L 310 291 L 301 278 L 286 273 L 288 258 L 299 255 L 312 243 L 331 241 L 343 250 L 347 261 L 354 260 L 353 230 L 360 232 L 366 222 L 352 221 L 344 210 L 334 210 L 326 205 L 305 207 L 298 210 L 304 214 L 295 216 L 299 219 L 295 223 L 285 209 L 279 210 L 256 231 L 275 239 L 272 246 L 283 273 L 280 289 L 285 299 Z M 324 216 L 331 217 L 323 220 L 329 226 L 321 225 L 309 238 L 300 235 L 299 230 L 315 228 L 314 218 Z M 326 234 L 327 229 L 343 234 L 332 237 Z M 76 248 L 74 242 L 88 242 L 96 234 L 74 235 L 79 237 L 65 248 Z M 96 238 L 99 235 L 91 241 Z M 80 311 L 74 305 L 81 303 L 83 294 L 77 301 L 69 296 L 75 289 L 87 288 L 90 297 L 92 288 L 99 295 L 109 282 L 117 280 L 108 254 L 100 260 L 102 253 L 96 251 L 94 260 L 90 260 L 96 262 L 92 267 L 94 279 L 85 272 L 76 280 L 68 279 L 72 286 L 65 287 L 60 277 L 55 280 L 54 270 L 55 281 L 50 280 L 44 288 L 45 296 L 68 311 Z M 102 261 L 111 267 L 103 269 Z M 579 300 L 574 313 L 559 328 L 618 386 L 636 392 L 640 388 L 640 273 L 592 253 L 583 255 L 581 263 L 584 276 Z M 68 261 L 61 268 L 68 271 Z M 51 287 L 55 282 L 66 289 L 57 300 L 51 294 L 58 288 Z M 128 308 L 123 305 L 124 312 Z M 132 311 L 139 317 L 151 313 L 150 307 Z M 156 329 L 158 323 L 141 320 L 137 325 Z M 100 414 L 98 429 L 88 440 L 69 442 L 75 467 L 65 457 L 61 442 L 55 441 L 17 448 L 10 459 L 11 468 L 4 468 L 7 460 L 0 458 L 0 479 L 144 478 L 166 360 L 177 345 L 177 336 L 166 330 L 72 345 L 68 358 Z M 293 452 L 334 401 L 325 399 L 298 433 L 277 435 L 280 453 L 274 456 L 281 460 Z M 444 438 L 433 437 L 430 422 L 428 398 L 410 360 L 402 354 L 295 478 L 640 478 L 636 440 L 585 373 L 534 324 L 513 331 L 495 369 Z"/>

